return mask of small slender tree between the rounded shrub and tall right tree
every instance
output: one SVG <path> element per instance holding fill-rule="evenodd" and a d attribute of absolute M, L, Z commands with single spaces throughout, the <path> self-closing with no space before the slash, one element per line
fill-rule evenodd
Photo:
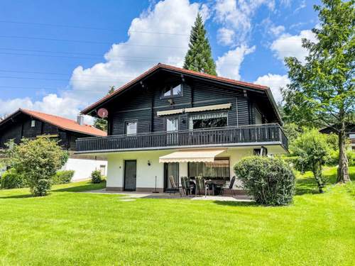
<path fill-rule="evenodd" d="M 327 135 L 317 129 L 305 129 L 290 145 L 290 153 L 297 156 L 298 165 L 302 170 L 310 170 L 315 176 L 320 193 L 323 193 L 324 178 L 322 176 L 322 165 L 329 157 L 330 149 Z"/>

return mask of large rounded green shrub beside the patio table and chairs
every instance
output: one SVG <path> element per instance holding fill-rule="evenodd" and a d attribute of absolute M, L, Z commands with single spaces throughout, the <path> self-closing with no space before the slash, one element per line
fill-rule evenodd
<path fill-rule="evenodd" d="M 258 204 L 288 205 L 293 201 L 295 174 L 279 158 L 245 157 L 234 165 L 234 172 Z"/>

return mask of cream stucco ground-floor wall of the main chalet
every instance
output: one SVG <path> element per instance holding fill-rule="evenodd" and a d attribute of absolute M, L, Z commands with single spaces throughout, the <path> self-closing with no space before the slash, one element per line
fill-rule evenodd
<path fill-rule="evenodd" d="M 107 171 L 107 187 L 123 188 L 124 187 L 124 160 L 137 161 L 137 188 L 155 187 L 155 176 L 157 177 L 157 188 L 164 188 L 164 165 L 159 163 L 159 157 L 173 153 L 174 150 L 156 150 L 156 151 L 137 151 L 124 153 L 111 153 L 107 155 L 108 171 Z M 253 155 L 253 148 L 228 148 L 219 155 L 219 157 L 229 157 L 230 175 L 234 176 L 233 167 L 242 157 Z M 148 166 L 148 160 L 151 165 Z M 180 177 L 187 176 L 187 162 L 180 162 Z M 235 185 L 237 185 L 236 182 Z"/>

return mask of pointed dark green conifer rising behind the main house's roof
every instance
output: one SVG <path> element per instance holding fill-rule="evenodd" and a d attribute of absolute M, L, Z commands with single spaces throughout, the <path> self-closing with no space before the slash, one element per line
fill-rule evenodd
<path fill-rule="evenodd" d="M 197 14 L 195 25 L 192 26 L 184 68 L 217 76 L 216 64 L 212 58 L 211 46 L 200 13 Z"/>

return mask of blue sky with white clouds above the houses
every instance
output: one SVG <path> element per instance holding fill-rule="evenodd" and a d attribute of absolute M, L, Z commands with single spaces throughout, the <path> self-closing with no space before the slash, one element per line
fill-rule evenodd
<path fill-rule="evenodd" d="M 266 84 L 280 100 L 283 57 L 314 38 L 304 0 L 1 1 L 0 116 L 19 107 L 74 118 L 158 62 L 181 66 L 197 11 L 220 76 Z"/>

